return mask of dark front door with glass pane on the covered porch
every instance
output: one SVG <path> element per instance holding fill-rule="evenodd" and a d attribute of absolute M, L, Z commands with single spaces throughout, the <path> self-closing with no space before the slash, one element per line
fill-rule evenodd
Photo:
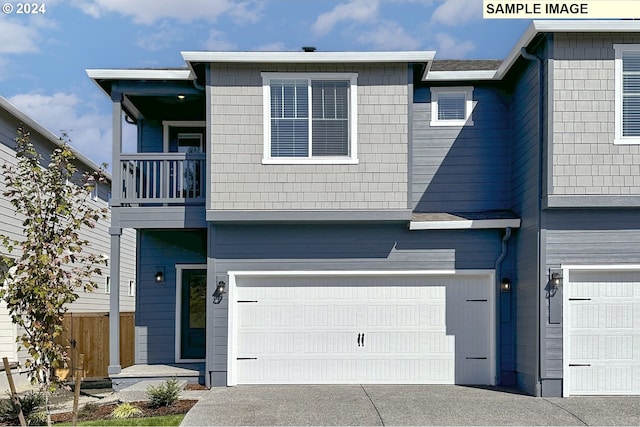
<path fill-rule="evenodd" d="M 207 270 L 182 269 L 179 359 L 204 359 Z"/>

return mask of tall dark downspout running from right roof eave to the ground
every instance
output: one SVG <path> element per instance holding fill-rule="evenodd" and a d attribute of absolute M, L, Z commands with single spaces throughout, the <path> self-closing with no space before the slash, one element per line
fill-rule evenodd
<path fill-rule="evenodd" d="M 536 319 L 538 322 L 538 327 L 536 328 L 536 354 L 538 357 L 538 363 L 536 366 L 537 372 L 536 372 L 536 381 L 537 381 L 537 389 L 535 390 L 535 395 L 536 396 L 541 396 L 542 395 L 542 355 L 540 354 L 540 349 L 541 349 L 541 343 L 540 343 L 540 339 L 542 337 L 542 330 L 541 330 L 541 323 L 542 323 L 542 319 L 540 317 L 540 313 L 542 313 L 542 298 L 540 298 L 540 282 L 541 282 L 541 275 L 540 275 L 540 265 L 542 263 L 542 235 L 541 235 L 541 227 L 542 227 L 542 175 L 544 172 L 544 168 L 543 168 L 543 144 L 544 144 L 544 124 L 542 122 L 542 117 L 544 114 L 544 105 L 542 103 L 542 99 L 544 96 L 544 88 L 542 87 L 542 82 L 544 81 L 544 76 L 543 76 L 543 69 L 542 69 L 542 59 L 540 59 L 539 57 L 537 57 L 536 55 L 532 55 L 529 52 L 527 52 L 527 50 L 523 47 L 522 49 L 520 49 L 520 54 L 522 55 L 522 57 L 524 59 L 527 59 L 529 61 L 536 61 L 538 63 L 538 196 L 537 196 L 537 212 L 536 212 L 536 219 L 538 222 L 538 226 L 537 226 L 537 233 L 538 233 L 538 238 L 537 238 L 537 245 L 538 245 L 538 265 L 537 265 L 537 269 L 536 269 L 536 280 L 537 280 L 537 288 L 538 288 L 538 303 L 536 304 Z"/>

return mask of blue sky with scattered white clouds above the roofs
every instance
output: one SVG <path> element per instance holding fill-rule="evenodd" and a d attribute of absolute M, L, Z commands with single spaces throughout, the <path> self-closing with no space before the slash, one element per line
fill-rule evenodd
<path fill-rule="evenodd" d="M 71 145 L 98 164 L 111 161 L 111 101 L 89 79 L 89 68 L 183 67 L 182 51 L 299 51 L 302 46 L 435 50 L 436 59 L 504 59 L 530 24 L 485 20 L 482 0 L 35 4 L 38 13 L 19 14 L 17 1 L 3 0 L 0 95 L 54 134 L 68 132 Z M 124 136 L 125 147 L 135 147 L 133 126 L 125 126 Z"/>

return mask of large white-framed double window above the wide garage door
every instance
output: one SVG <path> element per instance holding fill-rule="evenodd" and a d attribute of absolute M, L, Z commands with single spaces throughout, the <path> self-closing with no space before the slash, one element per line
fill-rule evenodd
<path fill-rule="evenodd" d="M 263 163 L 357 163 L 357 75 L 262 73 Z"/>

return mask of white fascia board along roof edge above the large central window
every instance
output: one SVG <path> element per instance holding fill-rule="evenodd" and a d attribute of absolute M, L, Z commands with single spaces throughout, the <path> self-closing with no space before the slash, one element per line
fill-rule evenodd
<path fill-rule="evenodd" d="M 213 63 L 375 63 L 429 62 L 435 51 L 400 52 L 182 52 L 186 62 Z"/>

